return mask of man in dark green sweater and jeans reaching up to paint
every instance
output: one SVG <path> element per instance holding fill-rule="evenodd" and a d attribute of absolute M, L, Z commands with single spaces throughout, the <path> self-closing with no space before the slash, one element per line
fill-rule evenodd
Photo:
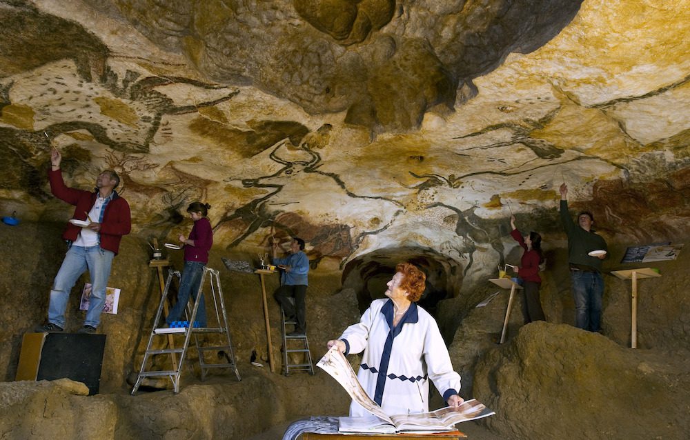
<path fill-rule="evenodd" d="M 568 236 L 568 263 L 575 299 L 575 327 L 600 332 L 604 294 L 601 270 L 602 260 L 607 257 L 607 244 L 592 230 L 594 216 L 591 212 L 580 212 L 577 224 L 571 219 L 566 199 L 568 186 L 565 183 L 560 186 L 560 194 L 560 217 Z"/>

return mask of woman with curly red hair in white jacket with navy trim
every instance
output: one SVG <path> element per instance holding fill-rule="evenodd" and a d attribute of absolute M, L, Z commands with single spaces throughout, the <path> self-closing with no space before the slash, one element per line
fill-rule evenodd
<path fill-rule="evenodd" d="M 327 344 L 346 355 L 364 352 L 357 379 L 386 414 L 428 412 L 428 379 L 449 406 L 463 402 L 457 395 L 460 374 L 453 371 L 436 321 L 416 303 L 425 281 L 424 272 L 413 264 L 398 264 L 386 284 L 388 298 L 372 301 L 359 323 Z M 353 401 L 350 415 L 369 413 Z"/>

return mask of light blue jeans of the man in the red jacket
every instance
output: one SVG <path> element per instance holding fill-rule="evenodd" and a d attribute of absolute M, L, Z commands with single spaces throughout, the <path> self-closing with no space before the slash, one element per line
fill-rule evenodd
<path fill-rule="evenodd" d="M 91 278 L 91 296 L 84 325 L 98 327 L 103 306 L 106 304 L 106 286 L 113 257 L 115 254 L 112 251 L 101 249 L 100 246 L 88 248 L 71 246 L 52 283 L 48 322 L 65 328 L 65 309 L 70 298 L 70 291 L 81 274 L 88 270 Z"/>

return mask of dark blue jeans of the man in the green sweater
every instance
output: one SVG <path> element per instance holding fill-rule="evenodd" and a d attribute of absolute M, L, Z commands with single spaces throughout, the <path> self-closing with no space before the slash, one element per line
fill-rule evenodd
<path fill-rule="evenodd" d="M 575 327 L 599 332 L 602 318 L 604 279 L 599 272 L 571 270 L 573 299 L 575 299 Z"/>

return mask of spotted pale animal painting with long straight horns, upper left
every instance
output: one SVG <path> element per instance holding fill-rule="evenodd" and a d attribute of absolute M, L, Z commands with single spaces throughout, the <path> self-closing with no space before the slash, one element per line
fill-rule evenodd
<path fill-rule="evenodd" d="M 227 90 L 225 86 L 193 79 L 148 77 L 132 70 L 120 79 L 110 67 L 105 68 L 100 79 L 102 83 L 85 82 L 70 61 L 61 61 L 50 70 L 39 72 L 37 79 L 32 80 L 40 81 L 41 93 L 25 96 L 14 92 L 15 102 L 0 108 L 3 113 L 8 112 L 10 106 L 14 106 L 12 110 L 19 106 L 30 109 L 25 121 L 18 123 L 17 118 L 10 121 L 7 117 L 2 120 L 20 129 L 43 125 L 51 138 L 68 131 L 85 130 L 95 141 L 112 150 L 142 153 L 149 151 L 150 143 L 161 128 L 161 119 L 166 115 L 195 113 L 228 101 L 239 93 L 236 89 Z M 17 81 L 0 83 L 0 89 L 8 96 L 14 88 L 19 88 Z M 175 84 L 227 91 L 217 99 L 177 106 L 157 90 Z M 109 94 L 112 97 L 108 97 Z"/>

